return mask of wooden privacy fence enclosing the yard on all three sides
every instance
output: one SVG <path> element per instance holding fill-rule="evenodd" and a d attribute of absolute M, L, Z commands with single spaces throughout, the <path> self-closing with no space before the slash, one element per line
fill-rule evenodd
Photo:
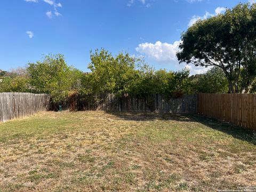
<path fill-rule="evenodd" d="M 0 93 L 0 122 L 45 111 L 49 108 L 49 100 L 47 94 Z M 70 98 L 69 109 L 194 113 L 256 130 L 256 94 L 198 94 L 181 98 L 161 94 L 145 98 L 108 94 L 99 100 L 74 95 Z"/>

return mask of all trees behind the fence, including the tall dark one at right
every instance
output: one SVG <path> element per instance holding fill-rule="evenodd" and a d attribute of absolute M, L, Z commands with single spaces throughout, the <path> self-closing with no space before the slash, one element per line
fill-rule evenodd
<path fill-rule="evenodd" d="M 128 53 L 117 55 L 100 49 L 91 52 L 83 73 L 68 66 L 61 54 L 45 55 L 26 68 L 0 70 L 0 92 L 49 93 L 54 103 L 69 95 L 97 98 L 165 94 L 180 97 L 196 93 L 256 92 L 256 5 L 238 4 L 205 20 L 197 21 L 181 35 L 178 60 L 209 67 L 205 74 L 189 75 L 188 69 L 155 70 L 145 60 Z"/>

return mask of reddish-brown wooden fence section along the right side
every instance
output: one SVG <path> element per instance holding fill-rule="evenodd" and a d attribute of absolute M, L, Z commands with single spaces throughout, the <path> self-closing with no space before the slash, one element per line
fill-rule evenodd
<path fill-rule="evenodd" d="M 256 94 L 199 94 L 198 113 L 256 130 Z"/>

